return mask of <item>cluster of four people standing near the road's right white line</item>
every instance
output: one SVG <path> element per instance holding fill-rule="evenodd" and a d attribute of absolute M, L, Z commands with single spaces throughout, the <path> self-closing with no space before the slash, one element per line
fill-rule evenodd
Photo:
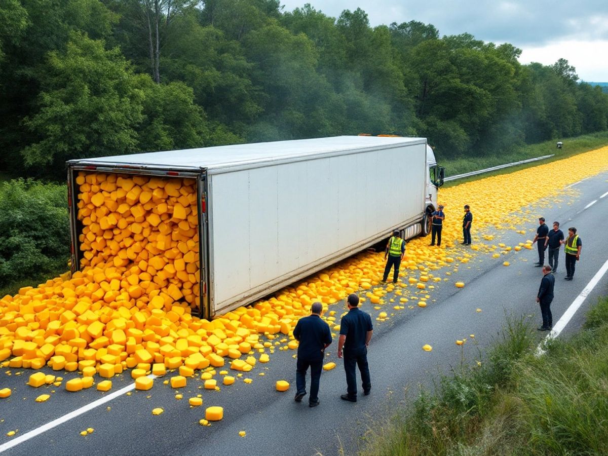
<path fill-rule="evenodd" d="M 581 258 L 582 241 L 576 228 L 568 228 L 568 237 L 564 238 L 564 232 L 559 229 L 559 222 L 553 222 L 553 229 L 550 230 L 545 224 L 545 218 L 539 217 L 539 227 L 536 229 L 536 236 L 532 243 L 538 247 L 538 263 L 534 264 L 537 268 L 542 267 L 542 280 L 536 295 L 536 302 L 541 305 L 542 325 L 539 331 L 550 331 L 553 328 L 553 316 L 551 315 L 551 302 L 553 302 L 553 289 L 555 286 L 555 272 L 558 270 L 559 250 L 564 244 L 566 277 L 564 280 L 572 280 L 576 269 L 576 261 Z M 545 250 L 548 249 L 549 264 L 545 264 Z"/>

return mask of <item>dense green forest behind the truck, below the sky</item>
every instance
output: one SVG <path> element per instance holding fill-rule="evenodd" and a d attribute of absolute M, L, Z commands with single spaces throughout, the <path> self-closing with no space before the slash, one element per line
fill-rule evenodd
<path fill-rule="evenodd" d="M 394 133 L 440 157 L 608 129 L 608 95 L 565 60 L 370 27 L 280 0 L 3 0 L 0 170 L 64 179 L 78 157 Z M 464 31 L 463 31 L 464 32 Z"/>

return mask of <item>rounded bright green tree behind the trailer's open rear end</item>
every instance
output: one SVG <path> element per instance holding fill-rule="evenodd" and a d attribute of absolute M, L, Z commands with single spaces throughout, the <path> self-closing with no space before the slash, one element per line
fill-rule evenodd
<path fill-rule="evenodd" d="M 24 119 L 29 166 L 58 170 L 73 158 L 125 154 L 137 144 L 144 93 L 119 49 L 72 32 L 65 52 L 50 52 L 41 69 L 36 109 Z"/>

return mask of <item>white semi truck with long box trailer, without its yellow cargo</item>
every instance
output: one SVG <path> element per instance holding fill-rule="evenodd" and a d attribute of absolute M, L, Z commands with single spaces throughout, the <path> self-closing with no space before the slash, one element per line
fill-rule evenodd
<path fill-rule="evenodd" d="M 426 235 L 443 168 L 424 138 L 339 136 L 67 162 L 78 171 L 196 179 L 201 316 L 210 318 L 400 230 Z M 71 204 L 72 269 L 79 268 Z"/>

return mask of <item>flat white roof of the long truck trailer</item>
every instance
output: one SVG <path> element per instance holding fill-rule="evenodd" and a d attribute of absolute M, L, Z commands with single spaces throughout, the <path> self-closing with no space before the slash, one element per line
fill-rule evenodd
<path fill-rule="evenodd" d="M 71 160 L 72 165 L 100 167 L 179 168 L 186 170 L 220 170 L 222 168 L 274 162 L 341 151 L 364 151 L 407 144 L 426 143 L 425 138 L 334 136 L 316 139 L 234 144 L 196 149 L 170 150 L 142 154 Z"/>

